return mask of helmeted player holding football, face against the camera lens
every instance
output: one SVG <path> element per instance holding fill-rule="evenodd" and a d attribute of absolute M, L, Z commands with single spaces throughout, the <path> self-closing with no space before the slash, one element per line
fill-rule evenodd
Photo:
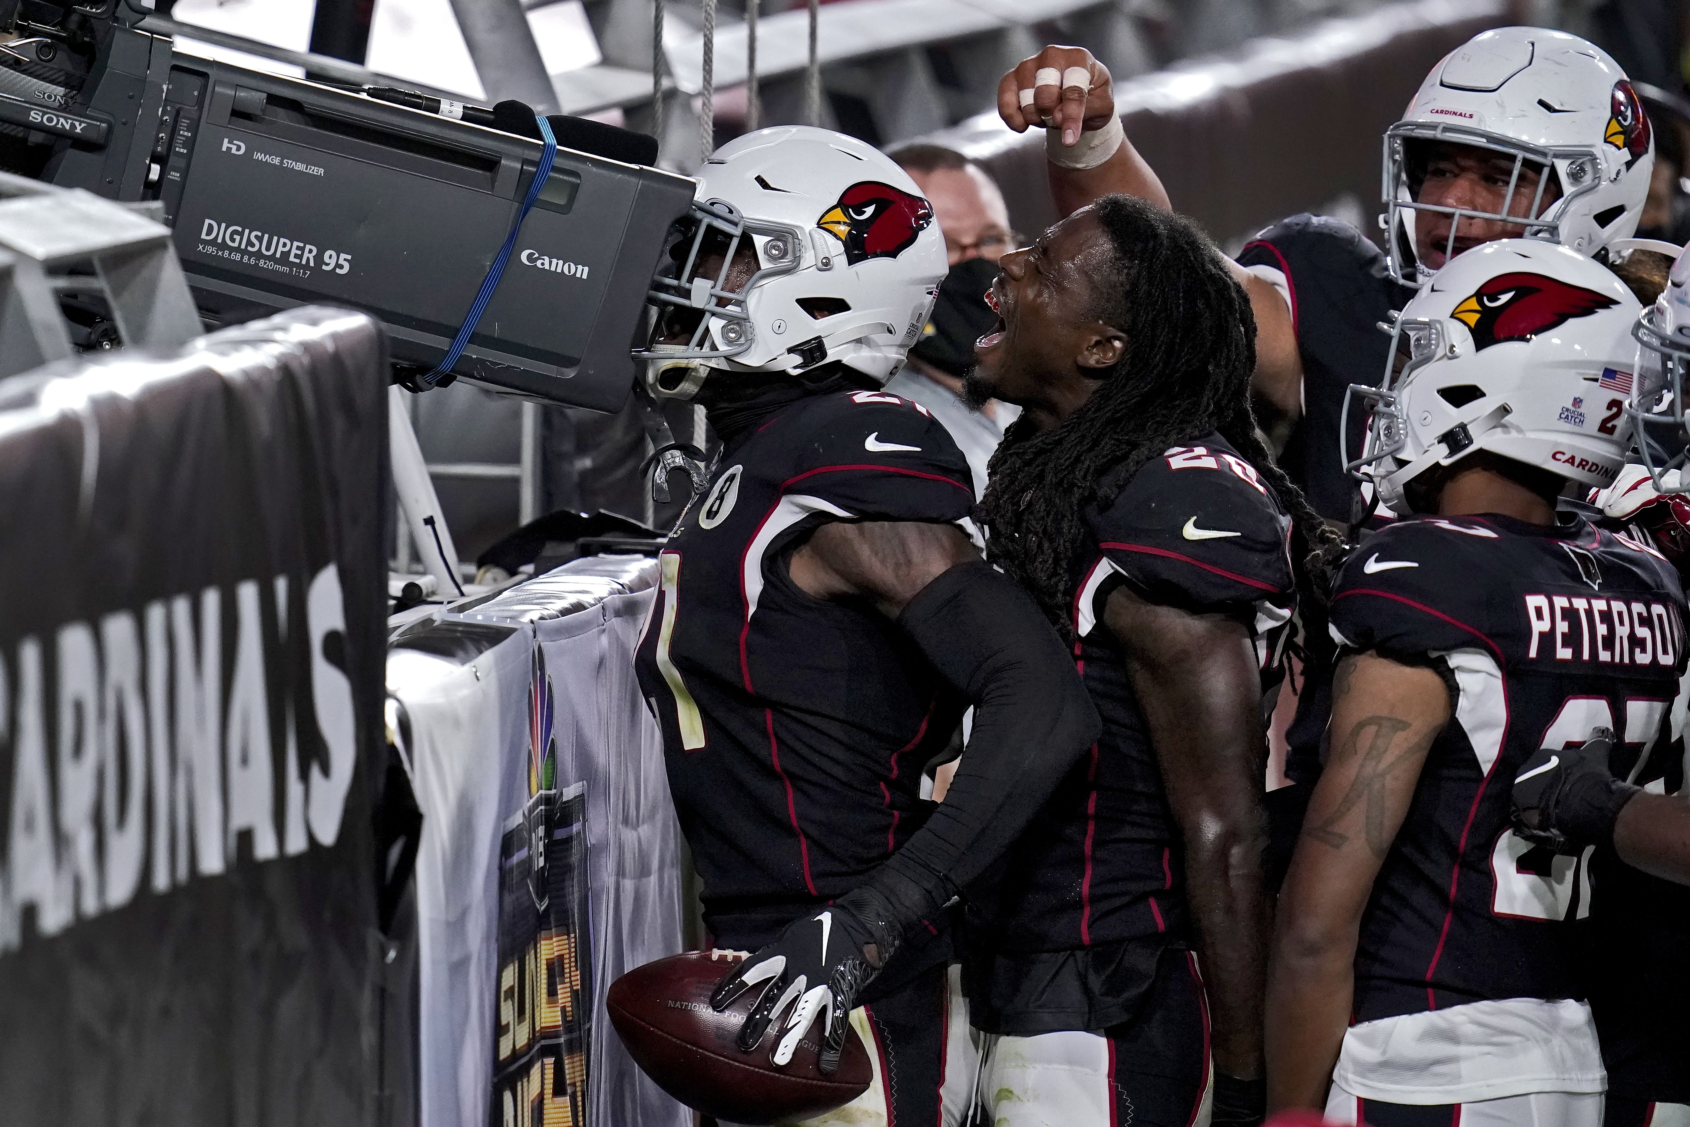
<path fill-rule="evenodd" d="M 706 162 L 679 233 L 641 357 L 657 394 L 706 407 L 723 449 L 661 554 L 637 671 L 705 923 L 755 951 L 715 1004 L 755 990 L 740 1044 L 776 1024 L 776 1064 L 820 1021 L 825 1068 L 862 1004 L 875 1085 L 838 1115 L 957 1122 L 972 1070 L 946 1070 L 946 1029 L 967 1037 L 945 907 L 1097 713 L 1033 600 L 980 559 L 957 444 L 880 390 L 946 265 L 909 176 L 850 137 L 767 128 Z M 935 808 L 921 769 L 968 705 Z"/>

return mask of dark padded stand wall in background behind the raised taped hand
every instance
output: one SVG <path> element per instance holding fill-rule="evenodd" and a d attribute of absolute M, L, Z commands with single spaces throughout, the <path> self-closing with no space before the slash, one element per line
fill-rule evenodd
<path fill-rule="evenodd" d="M 1217 242 L 1345 193 L 1376 238 L 1384 130 L 1438 59 L 1509 12 L 1506 0 L 1396 3 L 1117 81 L 1115 106 L 1175 210 Z M 1031 238 L 1056 221 L 1041 133 L 1012 133 L 990 110 L 928 140 L 985 166 L 1016 230 Z"/>

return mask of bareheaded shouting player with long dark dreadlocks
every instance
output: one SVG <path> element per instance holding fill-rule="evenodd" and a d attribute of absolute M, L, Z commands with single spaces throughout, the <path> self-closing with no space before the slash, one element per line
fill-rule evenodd
<path fill-rule="evenodd" d="M 980 1090 L 1014 1127 L 1254 1122 L 1264 688 L 1332 534 L 1256 434 L 1249 299 L 1193 223 L 1107 196 L 990 299 L 968 389 L 1022 407 L 990 559 L 1073 639 L 1104 733 L 970 897 Z"/>

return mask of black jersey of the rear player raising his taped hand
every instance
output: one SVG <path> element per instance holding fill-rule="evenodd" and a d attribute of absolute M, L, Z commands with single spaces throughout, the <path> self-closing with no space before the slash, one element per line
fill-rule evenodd
<path fill-rule="evenodd" d="M 1342 220 L 1293 215 L 1251 240 L 1239 265 L 1284 274 L 1291 324 L 1303 358 L 1303 419 L 1279 461 L 1315 510 L 1349 524 L 1355 482 L 1344 473 L 1338 426 L 1350 384 L 1379 387 L 1391 338 L 1381 321 L 1408 304 L 1415 291 L 1391 279 L 1384 253 Z M 1364 411 L 1350 412 L 1344 449 L 1360 453 Z"/>

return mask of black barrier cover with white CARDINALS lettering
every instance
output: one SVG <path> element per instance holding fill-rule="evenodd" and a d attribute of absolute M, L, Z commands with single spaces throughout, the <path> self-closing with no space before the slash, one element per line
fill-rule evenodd
<path fill-rule="evenodd" d="M 387 350 L 0 382 L 0 1120 L 367 1124 Z"/>

